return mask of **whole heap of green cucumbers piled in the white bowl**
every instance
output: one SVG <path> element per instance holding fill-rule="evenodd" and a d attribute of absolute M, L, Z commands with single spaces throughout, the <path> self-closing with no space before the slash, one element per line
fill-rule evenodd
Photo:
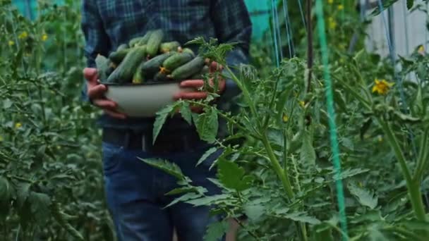
<path fill-rule="evenodd" d="M 171 80 L 200 79 L 208 73 L 202 56 L 179 42 L 163 42 L 162 30 L 150 30 L 143 37 L 121 44 L 108 57 L 95 59 L 103 83 L 140 84 Z"/>

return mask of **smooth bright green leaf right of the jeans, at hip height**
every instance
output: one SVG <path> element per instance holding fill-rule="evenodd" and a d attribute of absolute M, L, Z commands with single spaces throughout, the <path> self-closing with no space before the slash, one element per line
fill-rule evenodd
<path fill-rule="evenodd" d="M 243 168 L 236 163 L 220 159 L 217 162 L 219 180 L 226 188 L 231 188 L 241 192 L 250 187 L 252 178 L 245 175 Z"/>

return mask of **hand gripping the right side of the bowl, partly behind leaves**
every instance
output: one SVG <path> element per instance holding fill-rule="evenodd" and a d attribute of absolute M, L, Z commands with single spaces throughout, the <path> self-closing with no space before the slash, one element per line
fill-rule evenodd
<path fill-rule="evenodd" d="M 223 68 L 221 65 L 218 65 L 216 62 L 212 62 L 209 68 L 209 73 L 214 73 L 216 71 L 221 71 Z M 218 77 L 218 84 L 219 86 L 217 87 L 218 89 L 218 93 L 217 94 L 222 94 L 225 90 L 225 80 L 220 78 L 220 76 Z M 214 87 L 214 83 L 213 80 L 210 79 L 210 86 Z M 201 89 L 204 86 L 204 80 L 183 80 L 180 84 L 181 88 L 191 88 L 191 89 L 195 89 L 195 91 L 192 92 L 179 92 L 177 94 L 174 95 L 174 99 L 178 100 L 178 99 L 192 99 L 192 100 L 200 100 L 200 99 L 205 99 L 207 98 L 207 92 L 203 92 L 200 91 L 198 89 Z M 194 112 L 200 112 L 202 108 L 200 107 L 196 107 L 193 106 L 192 111 Z"/>

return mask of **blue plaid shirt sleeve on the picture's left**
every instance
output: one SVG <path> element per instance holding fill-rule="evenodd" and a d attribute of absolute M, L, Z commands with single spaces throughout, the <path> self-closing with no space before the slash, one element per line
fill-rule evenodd
<path fill-rule="evenodd" d="M 99 15 L 98 6 L 95 0 L 82 1 L 82 23 L 83 36 L 85 37 L 85 58 L 87 68 L 96 68 L 95 58 L 98 54 L 107 56 L 111 44 L 109 36 L 104 31 L 102 18 Z M 87 97 L 86 80 L 83 82 L 82 98 L 89 101 Z"/>

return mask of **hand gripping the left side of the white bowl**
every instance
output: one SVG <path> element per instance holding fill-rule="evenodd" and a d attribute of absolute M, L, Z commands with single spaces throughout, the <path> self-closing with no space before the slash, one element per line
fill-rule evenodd
<path fill-rule="evenodd" d="M 126 115 L 124 113 L 119 113 L 115 110 L 118 105 L 114 101 L 104 97 L 107 86 L 98 82 L 97 69 L 85 68 L 83 75 L 87 80 L 87 96 L 92 101 L 92 104 L 102 109 L 104 113 L 107 113 L 111 117 L 125 119 Z"/>

